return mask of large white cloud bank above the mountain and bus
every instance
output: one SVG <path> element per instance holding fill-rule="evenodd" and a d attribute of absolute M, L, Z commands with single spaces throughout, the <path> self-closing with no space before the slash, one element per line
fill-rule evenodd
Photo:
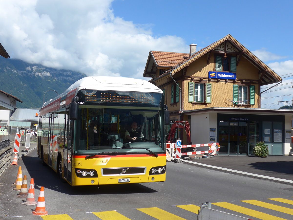
<path fill-rule="evenodd" d="M 111 0 L 1 2 L 0 40 L 11 58 L 87 75 L 143 78 L 149 50 L 186 51 L 176 36 L 115 16 Z"/>

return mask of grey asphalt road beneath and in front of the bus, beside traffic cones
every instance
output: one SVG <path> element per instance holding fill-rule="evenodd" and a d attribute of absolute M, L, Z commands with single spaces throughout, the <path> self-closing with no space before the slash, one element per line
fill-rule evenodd
<path fill-rule="evenodd" d="M 184 209 L 188 206 L 180 206 L 200 206 L 205 202 L 227 202 L 246 207 L 248 210 L 245 209 L 246 212 L 240 214 L 212 205 L 212 208 L 245 217 L 251 214 L 258 216 L 249 210 L 257 210 L 282 219 L 293 217 L 290 212 L 283 213 L 241 202 L 257 200 L 282 206 L 287 208 L 286 210 L 293 209 L 292 204 L 268 200 L 281 198 L 291 199 L 293 202 L 293 198 L 289 198 L 293 196 L 291 185 L 209 170 L 187 163 L 168 162 L 167 180 L 162 183 L 108 185 L 99 188 L 71 187 L 62 183 L 50 167 L 41 165 L 36 150 L 18 160 L 18 164 L 22 166 L 23 175 L 27 175 L 28 184 L 30 179 L 34 178 L 36 201 L 40 187 L 44 186 L 46 211 L 52 217 L 50 219 L 100 219 L 93 212 L 112 210 L 129 219 L 196 219 L 197 214 Z M 10 166 L 0 177 L 0 219 L 42 219 L 31 214 L 35 206 L 22 205 L 25 199 L 17 198 L 18 191 L 12 190 L 11 183 L 15 181 L 17 171 L 18 166 Z M 68 215 L 57 216 L 60 214 Z"/>

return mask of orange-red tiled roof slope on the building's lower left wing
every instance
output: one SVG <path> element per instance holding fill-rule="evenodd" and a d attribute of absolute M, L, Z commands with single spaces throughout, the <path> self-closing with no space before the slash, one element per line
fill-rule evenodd
<path fill-rule="evenodd" d="M 158 66 L 173 67 L 189 57 L 189 53 L 174 53 L 165 51 L 151 51 Z"/>

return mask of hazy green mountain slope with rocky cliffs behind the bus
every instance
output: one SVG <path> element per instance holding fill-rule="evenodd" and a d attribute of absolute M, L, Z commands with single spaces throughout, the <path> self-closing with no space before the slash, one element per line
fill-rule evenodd
<path fill-rule="evenodd" d="M 86 75 L 80 72 L 0 57 L 0 90 L 21 99 L 23 103 L 17 102 L 18 108 L 41 108 L 47 90 L 61 94 L 83 77 Z M 45 101 L 57 96 L 56 92 L 46 92 Z"/>

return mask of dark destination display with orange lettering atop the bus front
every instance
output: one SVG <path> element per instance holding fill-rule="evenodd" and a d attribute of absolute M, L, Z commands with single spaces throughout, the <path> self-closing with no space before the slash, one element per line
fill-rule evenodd
<path fill-rule="evenodd" d="M 79 104 L 146 104 L 159 106 L 163 94 L 149 92 L 80 90 Z M 80 103 L 84 102 L 84 103 Z"/>

